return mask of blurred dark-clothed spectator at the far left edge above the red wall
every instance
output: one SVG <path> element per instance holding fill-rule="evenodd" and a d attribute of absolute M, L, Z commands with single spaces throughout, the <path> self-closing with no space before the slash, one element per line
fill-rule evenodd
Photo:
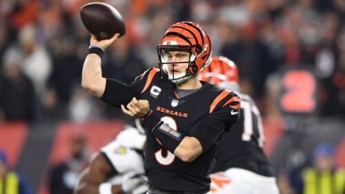
<path fill-rule="evenodd" d="M 34 88 L 20 69 L 21 53 L 10 47 L 3 56 L 0 77 L 0 120 L 34 120 Z"/>

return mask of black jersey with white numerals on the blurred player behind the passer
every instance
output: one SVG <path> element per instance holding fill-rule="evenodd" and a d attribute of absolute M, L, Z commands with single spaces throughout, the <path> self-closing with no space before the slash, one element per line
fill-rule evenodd
<path fill-rule="evenodd" d="M 237 93 L 238 94 L 238 93 Z M 261 175 L 273 176 L 272 168 L 262 150 L 264 133 L 259 109 L 247 95 L 241 98 L 239 121 L 217 142 L 213 172 L 237 167 Z"/>

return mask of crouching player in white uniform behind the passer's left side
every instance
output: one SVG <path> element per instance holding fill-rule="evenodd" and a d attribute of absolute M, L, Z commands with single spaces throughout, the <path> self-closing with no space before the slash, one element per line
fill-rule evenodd
<path fill-rule="evenodd" d="M 79 177 L 76 194 L 141 194 L 148 191 L 143 153 L 146 136 L 138 129 L 139 125 L 137 128 L 127 126 L 96 153 Z"/>

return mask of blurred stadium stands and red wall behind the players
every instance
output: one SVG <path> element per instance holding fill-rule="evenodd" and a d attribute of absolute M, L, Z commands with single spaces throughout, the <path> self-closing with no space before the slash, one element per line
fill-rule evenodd
<path fill-rule="evenodd" d="M 72 138 L 83 136 L 92 153 L 130 122 L 80 87 L 90 35 L 79 8 L 88 2 L 0 1 L 0 149 L 34 193 L 48 193 L 49 168 L 69 157 Z M 107 50 L 103 76 L 129 83 L 157 65 L 155 47 L 171 23 L 195 21 L 213 54 L 237 63 L 242 90 L 262 112 L 277 177 L 310 166 L 321 142 L 345 167 L 344 0 L 105 2 L 127 32 Z"/>

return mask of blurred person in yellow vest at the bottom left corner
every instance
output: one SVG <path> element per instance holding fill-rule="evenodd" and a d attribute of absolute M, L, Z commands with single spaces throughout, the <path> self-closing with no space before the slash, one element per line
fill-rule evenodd
<path fill-rule="evenodd" d="M 25 177 L 16 171 L 11 171 L 7 163 L 5 151 L 0 149 L 0 193 L 31 194 L 31 188 Z"/>

